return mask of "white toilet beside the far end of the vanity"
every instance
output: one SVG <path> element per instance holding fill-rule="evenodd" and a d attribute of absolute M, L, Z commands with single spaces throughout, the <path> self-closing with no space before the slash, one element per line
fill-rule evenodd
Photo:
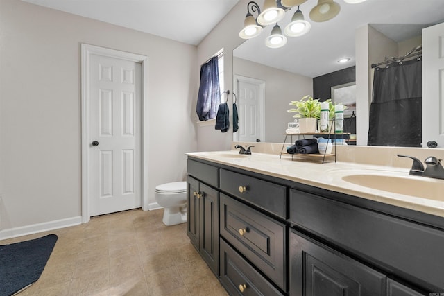
<path fill-rule="evenodd" d="M 164 207 L 164 225 L 187 222 L 187 182 L 172 182 L 155 187 L 155 200 Z"/>

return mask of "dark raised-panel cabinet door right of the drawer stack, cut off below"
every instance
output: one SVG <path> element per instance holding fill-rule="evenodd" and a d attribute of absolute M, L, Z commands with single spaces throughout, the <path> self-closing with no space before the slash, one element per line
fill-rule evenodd
<path fill-rule="evenodd" d="M 330 247 L 291 230 L 290 295 L 377 296 L 386 277 Z"/>

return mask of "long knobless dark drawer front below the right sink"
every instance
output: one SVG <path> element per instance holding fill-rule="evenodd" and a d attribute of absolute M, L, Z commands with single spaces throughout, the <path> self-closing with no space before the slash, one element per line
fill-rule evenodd
<path fill-rule="evenodd" d="M 444 290 L 442 230 L 293 189 L 290 219 L 407 281 Z"/>

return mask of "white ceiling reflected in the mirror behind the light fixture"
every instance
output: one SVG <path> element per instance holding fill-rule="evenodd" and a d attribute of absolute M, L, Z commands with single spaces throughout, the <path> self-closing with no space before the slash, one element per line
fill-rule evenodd
<path fill-rule="evenodd" d="M 341 11 L 334 19 L 323 23 L 309 19 L 309 11 L 316 6 L 316 0 L 308 0 L 300 6 L 305 20 L 311 23 L 307 35 L 289 37 L 284 47 L 269 49 L 265 46 L 265 38 L 270 35 L 273 26 L 267 26 L 261 35 L 235 49 L 234 55 L 292 73 L 317 77 L 355 65 L 356 28 L 370 24 L 399 42 L 420 35 L 424 27 L 444 21 L 444 0 L 367 0 L 357 4 L 334 1 L 341 5 Z M 295 11 L 296 8 L 292 8 L 279 22 L 282 31 Z M 345 64 L 337 62 L 345 57 L 351 60 Z"/>

